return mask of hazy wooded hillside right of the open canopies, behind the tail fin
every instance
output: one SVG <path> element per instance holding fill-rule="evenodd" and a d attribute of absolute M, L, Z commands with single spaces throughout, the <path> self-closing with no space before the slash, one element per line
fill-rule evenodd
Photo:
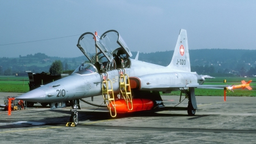
<path fill-rule="evenodd" d="M 135 58 L 137 52 L 132 52 Z M 139 60 L 167 66 L 173 51 L 140 53 Z M 196 49 L 189 50 L 191 71 L 198 74 L 256 75 L 256 50 Z"/>

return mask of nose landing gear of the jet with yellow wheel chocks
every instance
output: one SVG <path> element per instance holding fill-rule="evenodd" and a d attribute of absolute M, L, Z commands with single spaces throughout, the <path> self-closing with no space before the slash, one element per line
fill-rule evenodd
<path fill-rule="evenodd" d="M 77 109 L 81 109 L 80 108 L 80 104 L 79 104 L 79 99 L 77 100 L 72 100 L 72 102 L 70 102 L 72 105 L 72 109 L 71 109 L 71 116 L 69 118 L 69 122 L 67 122 L 66 126 L 67 127 L 76 127 L 78 125 L 78 112 Z"/>

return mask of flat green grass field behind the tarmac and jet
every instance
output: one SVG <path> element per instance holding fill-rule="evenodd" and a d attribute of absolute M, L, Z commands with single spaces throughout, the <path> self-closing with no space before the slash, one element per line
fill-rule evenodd
<path fill-rule="evenodd" d="M 223 83 L 226 79 L 227 83 Z M 256 97 L 256 77 L 216 77 L 215 79 L 207 79 L 204 84 L 214 85 L 228 85 L 241 84 L 241 81 L 250 81 L 253 90 L 234 90 L 234 92 L 227 92 L 227 96 L 239 96 L 239 97 Z M 26 93 L 29 91 L 29 79 L 28 77 L 15 77 L 15 76 L 0 76 L 0 92 L 22 92 Z M 216 89 L 202 89 L 195 88 L 197 96 L 208 95 L 208 96 L 223 96 L 223 90 Z M 163 95 L 180 95 L 180 92 L 172 92 Z"/>

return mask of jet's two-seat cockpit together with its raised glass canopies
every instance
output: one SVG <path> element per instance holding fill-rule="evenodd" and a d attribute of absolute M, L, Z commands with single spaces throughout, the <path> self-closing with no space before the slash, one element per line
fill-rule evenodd
<path fill-rule="evenodd" d="M 96 32 L 84 33 L 79 37 L 77 47 L 99 73 L 131 67 L 131 51 L 118 31 L 109 30 L 102 36 L 98 36 Z"/>

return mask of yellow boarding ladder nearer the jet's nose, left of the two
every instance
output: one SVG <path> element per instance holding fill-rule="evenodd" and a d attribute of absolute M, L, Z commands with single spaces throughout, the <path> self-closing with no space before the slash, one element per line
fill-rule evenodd
<path fill-rule="evenodd" d="M 112 81 L 108 79 L 107 72 L 100 75 L 102 76 L 102 97 L 104 99 L 104 104 L 107 104 L 110 115 L 112 117 L 115 117 L 116 107 L 115 107 L 115 97 L 113 93 Z"/>

